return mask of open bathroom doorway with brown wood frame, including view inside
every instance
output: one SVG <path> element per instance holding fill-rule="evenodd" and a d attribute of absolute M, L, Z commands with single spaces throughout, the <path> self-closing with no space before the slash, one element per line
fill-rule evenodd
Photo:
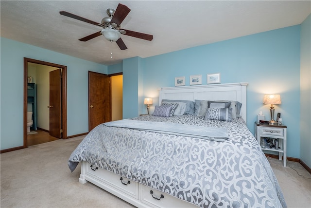
<path fill-rule="evenodd" d="M 50 88 L 51 80 L 50 72 L 60 71 L 59 78 L 59 100 L 58 104 L 53 104 L 52 110 L 59 108 L 59 116 L 52 114 L 50 116 Z M 33 83 L 33 84 L 30 84 Z M 30 145 L 36 144 L 37 139 L 39 143 L 53 141 L 59 138 L 67 138 L 67 67 L 63 65 L 58 65 L 54 63 L 44 62 L 40 60 L 24 58 L 24 148 L 27 148 Z M 30 86 L 35 86 L 35 102 L 37 105 L 32 104 L 32 95 L 28 95 L 31 92 Z M 52 93 L 54 95 L 54 93 Z M 35 106 L 35 108 L 34 108 Z M 50 108 L 49 108 L 50 107 Z M 33 125 L 32 133 L 27 133 L 27 123 L 31 124 L 32 122 L 27 122 L 27 112 L 33 110 L 35 116 L 33 116 Z M 57 118 L 56 118 L 57 117 Z M 57 130 L 55 126 L 51 127 L 51 123 L 59 120 L 59 125 Z M 52 122 L 51 122 L 52 121 Z M 29 126 L 29 125 L 28 125 Z M 28 127 L 29 128 L 29 127 Z M 51 130 L 51 128 L 53 128 Z M 28 130 L 29 131 L 29 130 Z M 55 134 L 52 132 L 58 131 L 59 133 Z M 50 135 L 52 133 L 52 135 Z"/>

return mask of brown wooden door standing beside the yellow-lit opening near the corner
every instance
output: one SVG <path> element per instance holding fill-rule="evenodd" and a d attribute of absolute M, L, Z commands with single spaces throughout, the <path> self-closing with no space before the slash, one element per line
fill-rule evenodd
<path fill-rule="evenodd" d="M 88 72 L 88 131 L 111 121 L 110 77 Z"/>

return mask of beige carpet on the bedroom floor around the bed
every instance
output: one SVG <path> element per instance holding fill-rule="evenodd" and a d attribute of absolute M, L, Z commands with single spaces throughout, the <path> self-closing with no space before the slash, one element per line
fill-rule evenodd
<path fill-rule="evenodd" d="M 84 136 L 2 153 L 1 208 L 132 208 L 112 194 L 78 182 L 80 165 L 70 173 L 67 160 Z M 311 177 L 299 163 L 269 158 L 288 207 L 311 207 Z"/>

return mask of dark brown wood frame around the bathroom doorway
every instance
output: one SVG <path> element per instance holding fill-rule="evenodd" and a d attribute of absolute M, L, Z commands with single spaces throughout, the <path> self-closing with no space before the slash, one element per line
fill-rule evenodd
<path fill-rule="evenodd" d="M 32 58 L 24 57 L 24 119 L 23 119 L 23 132 L 24 132 L 24 145 L 27 148 L 27 83 L 28 83 L 28 63 L 36 63 L 46 66 L 52 66 L 62 69 L 62 138 L 67 139 L 67 66 L 49 63 L 45 61 L 35 60 Z"/>

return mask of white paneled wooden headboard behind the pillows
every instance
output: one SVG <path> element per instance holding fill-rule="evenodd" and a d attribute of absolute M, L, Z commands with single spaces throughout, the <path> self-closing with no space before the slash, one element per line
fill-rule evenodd
<path fill-rule="evenodd" d="M 246 122 L 246 86 L 248 82 L 211 84 L 180 87 L 164 87 L 159 92 L 162 99 L 172 100 L 235 100 L 242 103 L 242 118 Z"/>

